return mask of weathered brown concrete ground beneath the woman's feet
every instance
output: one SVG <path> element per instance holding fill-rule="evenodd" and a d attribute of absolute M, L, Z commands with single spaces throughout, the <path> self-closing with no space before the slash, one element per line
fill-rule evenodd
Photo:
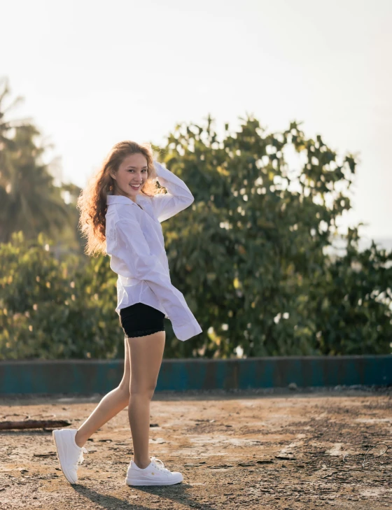
<path fill-rule="evenodd" d="M 0 421 L 77 428 L 102 396 L 0 397 Z M 182 483 L 125 485 L 126 408 L 85 444 L 76 485 L 51 429 L 0 431 L 0 509 L 392 509 L 391 434 L 392 388 L 157 392 L 150 455 Z"/>

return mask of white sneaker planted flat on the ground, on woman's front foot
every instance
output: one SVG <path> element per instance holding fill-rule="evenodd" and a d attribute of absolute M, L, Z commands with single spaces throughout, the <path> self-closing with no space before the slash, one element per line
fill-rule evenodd
<path fill-rule="evenodd" d="M 125 481 L 128 486 L 172 486 L 183 481 L 183 476 L 179 472 L 166 469 L 162 460 L 151 457 L 151 462 L 145 469 L 140 469 L 131 460 Z"/>

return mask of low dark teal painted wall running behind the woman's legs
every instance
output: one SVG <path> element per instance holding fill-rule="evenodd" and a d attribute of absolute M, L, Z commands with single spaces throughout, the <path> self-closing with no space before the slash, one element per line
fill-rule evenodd
<path fill-rule="evenodd" d="M 0 362 L 0 395 L 104 393 L 123 377 L 123 360 L 22 360 Z M 162 390 L 391 385 L 392 355 L 255 357 L 246 360 L 162 360 Z"/>

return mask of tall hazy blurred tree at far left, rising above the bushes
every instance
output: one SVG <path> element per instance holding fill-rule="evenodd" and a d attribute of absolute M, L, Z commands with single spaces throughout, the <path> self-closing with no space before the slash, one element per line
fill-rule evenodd
<path fill-rule="evenodd" d="M 8 242 L 12 232 L 24 232 L 28 239 L 39 232 L 55 236 L 69 224 L 71 211 L 60 190 L 52 183 L 42 155 L 48 146 L 38 146 L 40 132 L 29 120 L 6 120 L 10 107 L 3 101 L 9 94 L 8 82 L 0 93 L 0 242 Z"/>

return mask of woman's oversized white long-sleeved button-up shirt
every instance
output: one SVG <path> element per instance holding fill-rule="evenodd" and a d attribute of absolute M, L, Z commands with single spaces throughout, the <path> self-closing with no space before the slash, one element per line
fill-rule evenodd
<path fill-rule="evenodd" d="M 166 194 L 136 195 L 136 203 L 123 195 L 108 194 L 106 253 L 118 274 L 117 313 L 135 303 L 144 303 L 165 313 L 174 334 L 185 341 L 202 332 L 183 294 L 169 275 L 162 221 L 183 211 L 194 201 L 186 183 L 154 161 L 158 182 Z"/>

